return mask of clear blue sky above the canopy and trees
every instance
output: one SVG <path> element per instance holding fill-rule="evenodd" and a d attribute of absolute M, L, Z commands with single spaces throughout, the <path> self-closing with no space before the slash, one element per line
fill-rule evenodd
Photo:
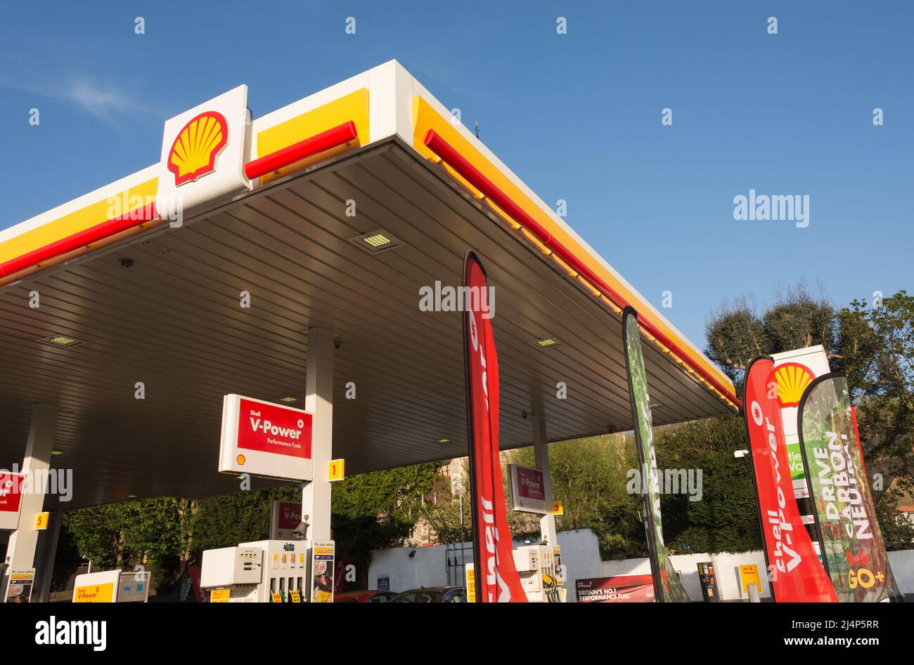
<path fill-rule="evenodd" d="M 258 117 L 397 58 L 699 346 L 743 294 L 914 287 L 914 5 L 632 5 L 6 5 L 0 228 L 153 164 L 166 118 L 239 83 Z M 749 189 L 809 195 L 809 227 L 734 220 Z"/>

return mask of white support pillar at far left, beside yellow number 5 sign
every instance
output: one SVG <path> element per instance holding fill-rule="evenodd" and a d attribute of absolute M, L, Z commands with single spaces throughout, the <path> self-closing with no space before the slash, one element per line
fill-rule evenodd
<path fill-rule="evenodd" d="M 54 431 L 57 429 L 57 414 L 56 405 L 36 404 L 32 406 L 32 425 L 28 430 L 26 455 L 20 470 L 27 476 L 29 491 L 22 495 L 19 528 L 10 535 L 9 544 L 6 547 L 6 573 L 12 568 L 37 567 L 35 548 L 39 532 L 35 530 L 35 516 L 44 506 L 45 488 L 36 487 L 36 479 L 44 481 L 48 478 L 51 450 L 54 449 Z M 8 577 L 5 575 L 4 592 L 7 581 Z M 33 593 L 34 591 L 33 589 Z"/>

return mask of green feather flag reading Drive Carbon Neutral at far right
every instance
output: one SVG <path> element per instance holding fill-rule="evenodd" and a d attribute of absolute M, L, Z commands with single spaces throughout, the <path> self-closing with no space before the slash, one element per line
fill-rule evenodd
<path fill-rule="evenodd" d="M 874 603 L 898 596 L 845 375 L 815 379 L 802 395 L 797 420 L 823 564 L 838 601 Z"/>

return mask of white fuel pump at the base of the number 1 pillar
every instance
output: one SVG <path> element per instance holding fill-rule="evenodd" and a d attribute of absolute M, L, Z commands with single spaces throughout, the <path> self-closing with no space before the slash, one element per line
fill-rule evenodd
<path fill-rule="evenodd" d="M 330 603 L 333 541 L 265 540 L 203 553 L 200 586 L 214 603 Z"/>

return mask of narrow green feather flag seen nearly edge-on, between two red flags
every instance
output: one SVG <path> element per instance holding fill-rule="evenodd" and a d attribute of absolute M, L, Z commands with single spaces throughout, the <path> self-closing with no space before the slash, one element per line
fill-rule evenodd
<path fill-rule="evenodd" d="M 625 347 L 625 369 L 632 402 L 635 447 L 638 449 L 638 461 L 641 465 L 644 529 L 647 534 L 647 550 L 651 558 L 651 573 L 654 575 L 654 596 L 657 602 L 661 603 L 687 603 L 689 597 L 679 582 L 664 544 L 651 398 L 647 393 L 647 373 L 644 370 L 641 334 L 638 332 L 638 314 L 631 307 L 626 307 L 622 312 L 622 345 Z"/>

